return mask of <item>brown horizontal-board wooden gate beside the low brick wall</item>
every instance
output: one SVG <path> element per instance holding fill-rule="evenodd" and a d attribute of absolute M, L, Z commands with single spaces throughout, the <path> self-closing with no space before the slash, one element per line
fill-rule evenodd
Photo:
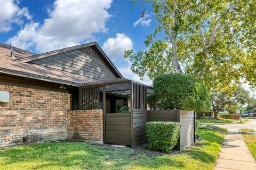
<path fill-rule="evenodd" d="M 131 114 L 106 114 L 106 143 L 131 145 Z"/>

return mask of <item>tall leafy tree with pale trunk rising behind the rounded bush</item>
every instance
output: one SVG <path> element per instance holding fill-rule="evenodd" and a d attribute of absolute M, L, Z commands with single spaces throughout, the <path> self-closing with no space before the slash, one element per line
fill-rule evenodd
<path fill-rule="evenodd" d="M 125 52 L 141 79 L 185 72 L 209 90 L 228 91 L 241 77 L 256 85 L 255 1 L 155 0 L 151 6 L 157 22 L 146 50 Z"/>

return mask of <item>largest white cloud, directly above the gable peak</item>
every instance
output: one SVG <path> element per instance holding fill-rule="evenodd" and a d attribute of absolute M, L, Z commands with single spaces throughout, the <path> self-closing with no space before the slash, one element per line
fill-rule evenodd
<path fill-rule="evenodd" d="M 40 25 L 28 23 L 7 43 L 25 48 L 36 47 L 39 52 L 81 44 L 94 38 L 93 33 L 106 31 L 105 23 L 111 17 L 107 9 L 112 0 L 57 0 L 52 10 L 47 10 L 49 18 Z"/>

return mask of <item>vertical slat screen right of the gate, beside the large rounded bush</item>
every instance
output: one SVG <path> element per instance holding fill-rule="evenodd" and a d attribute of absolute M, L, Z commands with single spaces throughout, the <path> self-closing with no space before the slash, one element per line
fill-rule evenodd
<path fill-rule="evenodd" d="M 147 87 L 133 83 L 133 109 L 147 110 Z"/>

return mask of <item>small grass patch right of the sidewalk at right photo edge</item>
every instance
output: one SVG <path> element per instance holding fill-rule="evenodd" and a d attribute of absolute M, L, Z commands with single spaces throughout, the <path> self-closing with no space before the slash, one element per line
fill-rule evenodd
<path fill-rule="evenodd" d="M 242 132 L 243 134 L 243 137 L 244 137 L 244 140 L 245 142 L 247 143 L 251 153 L 252 153 L 252 156 L 254 157 L 254 159 L 256 159 L 256 135 L 254 133 L 253 135 L 253 132 L 255 132 L 253 129 L 240 129 L 240 131 Z"/>

